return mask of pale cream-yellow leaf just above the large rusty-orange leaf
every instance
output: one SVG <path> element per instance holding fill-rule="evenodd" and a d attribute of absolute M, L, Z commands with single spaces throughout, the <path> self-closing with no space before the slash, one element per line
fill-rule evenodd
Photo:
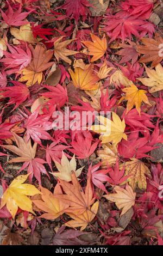
<path fill-rule="evenodd" d="M 77 169 L 77 162 L 75 159 L 75 155 L 73 155 L 72 159 L 70 160 L 70 162 L 68 161 L 67 157 L 65 156 L 64 153 L 62 153 L 62 158 L 61 158 L 61 164 L 54 161 L 55 162 L 55 166 L 57 167 L 57 169 L 59 170 L 59 172 L 53 172 L 52 174 L 61 179 L 61 180 L 65 180 L 65 181 L 71 181 L 72 180 L 72 170 L 73 172 L 76 174 L 76 177 L 78 177 L 84 166 Z"/>

